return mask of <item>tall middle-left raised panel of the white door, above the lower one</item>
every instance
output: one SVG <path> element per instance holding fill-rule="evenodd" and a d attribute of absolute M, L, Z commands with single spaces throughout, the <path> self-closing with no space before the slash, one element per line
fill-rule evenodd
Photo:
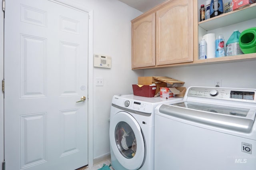
<path fill-rule="evenodd" d="M 20 97 L 46 97 L 46 38 L 20 35 Z"/>

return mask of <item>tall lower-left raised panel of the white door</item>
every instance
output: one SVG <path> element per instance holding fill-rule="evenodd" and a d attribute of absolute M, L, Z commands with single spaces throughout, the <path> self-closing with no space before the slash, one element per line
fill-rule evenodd
<path fill-rule="evenodd" d="M 22 115 L 20 132 L 21 168 L 46 162 L 46 113 Z"/>

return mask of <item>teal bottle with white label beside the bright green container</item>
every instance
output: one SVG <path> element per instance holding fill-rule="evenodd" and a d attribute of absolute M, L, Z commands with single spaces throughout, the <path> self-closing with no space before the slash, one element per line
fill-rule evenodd
<path fill-rule="evenodd" d="M 228 39 L 226 43 L 226 56 L 243 54 L 239 46 L 240 34 L 238 30 L 234 30 L 233 34 Z"/>

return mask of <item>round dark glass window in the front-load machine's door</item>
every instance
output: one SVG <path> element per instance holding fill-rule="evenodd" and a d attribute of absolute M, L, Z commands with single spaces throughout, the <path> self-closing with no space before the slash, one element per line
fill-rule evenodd
<path fill-rule="evenodd" d="M 136 154 L 137 142 L 130 125 L 126 122 L 119 122 L 116 125 L 115 137 L 119 152 L 128 159 L 133 158 Z"/>

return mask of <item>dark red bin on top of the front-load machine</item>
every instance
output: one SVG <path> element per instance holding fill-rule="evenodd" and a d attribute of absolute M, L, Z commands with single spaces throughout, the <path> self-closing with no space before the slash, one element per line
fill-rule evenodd
<path fill-rule="evenodd" d="M 156 86 L 149 85 L 132 85 L 133 94 L 142 97 L 154 97 Z"/>

